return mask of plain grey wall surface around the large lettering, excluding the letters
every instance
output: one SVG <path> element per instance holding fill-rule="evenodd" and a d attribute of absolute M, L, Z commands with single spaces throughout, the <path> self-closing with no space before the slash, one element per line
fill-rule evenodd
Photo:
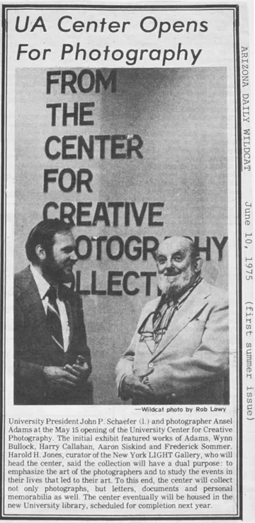
<path fill-rule="evenodd" d="M 75 70 L 79 73 L 80 70 Z M 107 76 L 110 70 L 102 70 Z M 94 126 L 62 126 L 61 119 L 52 127 L 46 104 L 54 102 L 94 101 Z M 45 203 L 60 202 L 164 202 L 164 226 L 77 227 L 76 236 L 113 236 L 128 238 L 155 236 L 199 236 L 205 246 L 207 236 L 219 241 L 227 236 L 227 97 L 225 68 L 199 69 L 121 69 L 117 71 L 117 89 L 99 93 L 61 94 L 60 87 L 46 94 L 46 70 L 16 71 L 16 216 L 15 270 L 27 265 L 24 244 L 30 229 L 42 219 Z M 143 158 L 89 160 L 49 160 L 45 155 L 48 136 L 137 133 L 144 145 Z M 53 150 L 53 147 L 52 147 Z M 121 151 L 120 151 L 121 152 Z M 61 192 L 51 184 L 43 192 L 46 168 L 89 168 L 94 179 L 93 192 Z M 92 213 L 93 214 L 93 213 Z M 110 214 L 110 213 L 109 213 Z M 57 211 L 49 217 L 59 216 Z M 121 215 L 123 216 L 123 214 Z M 145 214 L 147 216 L 147 214 Z M 117 246 L 116 246 L 117 248 Z M 202 254 L 205 260 L 205 253 Z M 132 270 L 155 271 L 152 255 L 148 260 L 109 260 L 103 247 L 102 260 L 95 251 L 87 260 L 79 260 L 81 289 L 91 289 L 91 271 L 96 270 L 97 288 L 106 289 L 107 273 Z M 227 245 L 222 261 L 211 240 L 211 259 L 204 261 L 203 274 L 210 282 L 227 289 Z M 120 278 L 121 279 L 121 278 Z M 94 362 L 95 403 L 118 403 L 115 392 L 115 365 L 128 347 L 142 306 L 157 296 L 153 278 L 151 295 L 145 295 L 145 278 L 130 279 L 130 288 L 139 288 L 135 296 L 84 296 L 84 316 Z M 115 287 L 121 290 L 121 285 Z"/>

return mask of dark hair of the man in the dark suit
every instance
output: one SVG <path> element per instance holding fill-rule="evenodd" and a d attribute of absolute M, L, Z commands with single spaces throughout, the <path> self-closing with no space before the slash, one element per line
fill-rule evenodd
<path fill-rule="evenodd" d="M 54 244 L 55 234 L 67 233 L 71 231 L 71 229 L 72 225 L 57 218 L 40 221 L 28 234 L 26 241 L 26 255 L 28 260 L 31 263 L 37 263 L 38 255 L 35 253 L 35 247 L 40 245 L 45 249 L 45 253 L 50 253 Z"/>

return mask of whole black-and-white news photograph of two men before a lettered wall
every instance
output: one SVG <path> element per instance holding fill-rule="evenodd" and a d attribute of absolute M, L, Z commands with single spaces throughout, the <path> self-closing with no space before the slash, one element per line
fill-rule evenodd
<path fill-rule="evenodd" d="M 226 73 L 16 73 L 16 403 L 229 402 Z"/>

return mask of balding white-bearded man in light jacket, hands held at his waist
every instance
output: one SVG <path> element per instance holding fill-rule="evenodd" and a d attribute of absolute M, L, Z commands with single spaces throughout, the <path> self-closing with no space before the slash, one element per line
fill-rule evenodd
<path fill-rule="evenodd" d="M 163 241 L 156 259 L 162 296 L 145 305 L 117 365 L 118 394 L 132 404 L 228 403 L 227 294 L 203 280 L 186 237 Z"/>

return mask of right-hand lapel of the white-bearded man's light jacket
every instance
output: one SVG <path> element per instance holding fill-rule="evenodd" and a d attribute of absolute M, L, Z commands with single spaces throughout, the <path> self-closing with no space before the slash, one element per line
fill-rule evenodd
<path fill-rule="evenodd" d="M 183 303 L 181 308 L 174 313 L 171 319 L 169 329 L 163 336 L 162 341 L 159 343 L 157 350 L 154 352 L 154 358 L 162 353 L 166 346 L 184 329 L 191 319 L 193 319 L 204 307 L 207 305 L 206 298 L 211 294 L 208 285 L 203 282 L 191 292 L 190 296 Z"/>

